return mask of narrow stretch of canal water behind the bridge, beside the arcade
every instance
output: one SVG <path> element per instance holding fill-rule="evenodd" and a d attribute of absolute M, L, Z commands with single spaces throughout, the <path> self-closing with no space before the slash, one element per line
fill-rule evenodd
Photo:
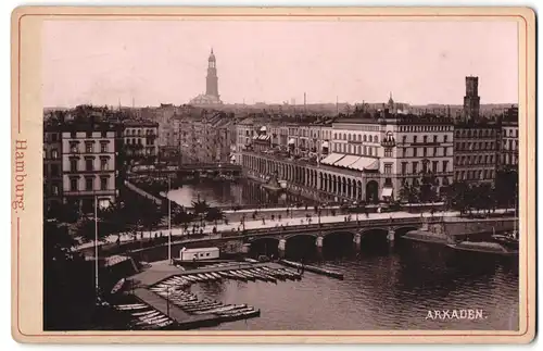
<path fill-rule="evenodd" d="M 294 193 L 274 193 L 255 181 L 200 181 L 185 184 L 168 192 L 168 198 L 182 206 L 191 206 L 197 199 L 205 200 L 212 206 L 278 205 L 306 201 Z"/>

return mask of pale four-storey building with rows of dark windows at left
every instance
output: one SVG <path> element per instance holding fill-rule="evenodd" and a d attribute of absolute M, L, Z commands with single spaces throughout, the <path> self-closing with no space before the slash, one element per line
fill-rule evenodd
<path fill-rule="evenodd" d="M 116 138 L 122 126 L 108 122 L 66 122 L 61 126 L 64 203 L 93 211 L 115 202 Z"/>

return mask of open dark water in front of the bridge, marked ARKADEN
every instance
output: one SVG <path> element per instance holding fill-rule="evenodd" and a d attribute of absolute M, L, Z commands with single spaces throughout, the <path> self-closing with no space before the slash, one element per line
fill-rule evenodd
<path fill-rule="evenodd" d="M 260 317 L 210 328 L 219 330 L 517 330 L 519 326 L 516 264 L 458 262 L 439 250 L 420 252 L 397 243 L 312 260 L 342 271 L 344 279 L 305 272 L 299 281 L 210 281 L 193 285 L 191 291 L 261 309 Z M 428 311 L 464 309 L 482 310 L 483 318 L 428 317 Z"/>

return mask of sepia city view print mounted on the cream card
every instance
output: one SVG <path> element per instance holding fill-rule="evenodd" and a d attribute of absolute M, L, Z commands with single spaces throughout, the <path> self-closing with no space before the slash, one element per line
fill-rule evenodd
<path fill-rule="evenodd" d="M 42 331 L 525 333 L 518 16 L 36 33 Z"/>

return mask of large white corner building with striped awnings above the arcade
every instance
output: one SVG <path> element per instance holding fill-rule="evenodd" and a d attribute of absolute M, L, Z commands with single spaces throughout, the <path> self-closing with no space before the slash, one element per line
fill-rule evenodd
<path fill-rule="evenodd" d="M 369 202 L 399 199 L 404 186 L 419 186 L 425 174 L 434 177 L 438 189 L 452 183 L 453 125 L 447 118 L 389 115 L 386 110 L 383 118 L 340 120 L 332 128 L 331 154 L 321 163 L 361 172 Z"/>

